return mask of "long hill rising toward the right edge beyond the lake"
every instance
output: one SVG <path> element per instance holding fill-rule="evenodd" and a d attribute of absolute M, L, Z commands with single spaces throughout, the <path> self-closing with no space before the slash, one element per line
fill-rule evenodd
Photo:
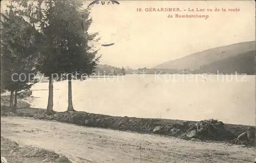
<path fill-rule="evenodd" d="M 167 61 L 154 67 L 154 69 L 200 69 L 201 67 L 202 71 L 211 71 L 213 69 L 230 68 L 228 65 L 235 64 L 239 64 L 236 65 L 236 69 L 239 66 L 240 69 L 244 69 L 244 66 L 248 66 L 248 69 L 251 69 L 252 62 L 249 62 L 248 59 L 252 59 L 253 52 L 255 55 L 255 41 L 236 43 L 200 51 L 177 60 Z M 242 57 L 243 55 L 245 55 L 245 58 Z M 239 59 L 241 59 L 241 62 Z M 202 66 L 205 67 L 202 69 Z M 212 68 L 210 69 L 210 67 Z M 236 71 L 235 69 L 233 70 Z"/>

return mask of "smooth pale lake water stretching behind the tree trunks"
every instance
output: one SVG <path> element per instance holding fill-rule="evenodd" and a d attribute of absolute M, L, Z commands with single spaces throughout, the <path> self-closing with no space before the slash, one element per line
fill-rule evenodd
<path fill-rule="evenodd" d="M 48 89 L 37 83 L 32 90 Z M 77 111 L 182 120 L 219 119 L 255 125 L 254 75 L 125 75 L 72 82 Z M 48 90 L 33 91 L 33 107 L 47 107 Z M 54 82 L 54 110 L 66 111 L 68 82 Z"/>

